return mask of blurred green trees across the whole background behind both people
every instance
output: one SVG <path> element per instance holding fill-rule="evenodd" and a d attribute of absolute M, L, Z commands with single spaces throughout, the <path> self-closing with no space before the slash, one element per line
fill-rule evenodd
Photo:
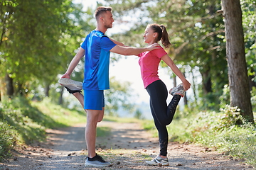
<path fill-rule="evenodd" d="M 83 11 L 81 4 L 74 4 L 71 0 L 0 2 L 0 96 L 22 95 L 38 100 L 50 96 L 55 103 L 67 102 L 62 98 L 63 89 L 57 83 L 59 74 L 65 72 L 75 55 L 75 49 L 78 49 L 86 34 L 95 28 L 95 8 Z M 218 111 L 220 107 L 230 103 L 227 86 L 230 68 L 227 62 L 225 17 L 221 0 L 97 2 L 97 6 L 101 5 L 112 6 L 115 25 L 120 26 L 120 32 L 112 35 L 112 38 L 125 45 L 144 46 L 142 35 L 149 23 L 166 26 L 171 43 L 174 44 L 167 52 L 185 76 L 193 79 L 193 95 L 185 98 L 185 103 L 191 111 L 193 108 Z M 251 96 L 246 98 L 248 103 L 252 97 L 253 109 L 256 103 L 253 99 L 256 86 L 255 7 L 253 0 L 240 0 L 245 43 L 245 55 L 242 57 L 245 57 L 244 69 L 247 70 L 247 77 L 239 81 L 249 82 L 247 92 L 251 91 Z M 113 61 L 118 60 L 119 56 L 114 55 Z M 167 66 L 161 63 L 161 67 Z M 197 72 L 201 79 L 199 83 L 198 77 L 195 76 Z M 82 62 L 73 73 L 73 79 L 82 79 Z M 174 75 L 170 79 L 175 80 Z M 129 86 L 114 79 L 111 83 L 113 89 L 112 92 L 107 92 L 107 101 L 131 101 L 123 103 L 123 106 L 120 102 L 116 105 L 132 111 L 134 102 L 129 99 Z M 119 85 L 123 86 L 123 89 L 120 89 Z M 122 93 L 114 94 L 116 88 Z M 238 91 L 245 87 L 234 88 Z M 118 111 L 114 107 L 116 106 L 110 108 L 111 114 Z M 250 112 L 245 114 L 252 115 Z"/>

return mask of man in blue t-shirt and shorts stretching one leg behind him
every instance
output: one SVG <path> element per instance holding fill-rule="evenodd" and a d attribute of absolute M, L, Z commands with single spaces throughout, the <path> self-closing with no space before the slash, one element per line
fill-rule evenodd
<path fill-rule="evenodd" d="M 110 40 L 105 35 L 108 28 L 112 28 L 114 18 L 112 16 L 112 8 L 109 6 L 100 6 L 95 11 L 97 28 L 87 35 L 82 43 L 78 53 L 70 62 L 67 72 L 62 78 L 66 81 L 59 81 L 60 84 L 68 87 L 68 91 L 73 94 L 87 112 L 87 125 L 85 128 L 85 140 L 87 144 L 88 156 L 85 166 L 108 166 L 102 157 L 95 152 L 96 128 L 97 123 L 103 119 L 104 115 L 104 94 L 103 91 L 110 89 L 109 82 L 109 65 L 110 52 L 120 55 L 138 55 L 139 53 L 150 51 L 158 48 L 157 44 L 149 47 L 135 48 L 124 47 L 121 42 Z M 80 89 L 70 89 L 75 86 L 78 81 L 70 80 L 70 74 L 73 72 L 78 62 L 85 56 L 85 74 L 82 89 L 84 96 L 80 93 Z"/>

